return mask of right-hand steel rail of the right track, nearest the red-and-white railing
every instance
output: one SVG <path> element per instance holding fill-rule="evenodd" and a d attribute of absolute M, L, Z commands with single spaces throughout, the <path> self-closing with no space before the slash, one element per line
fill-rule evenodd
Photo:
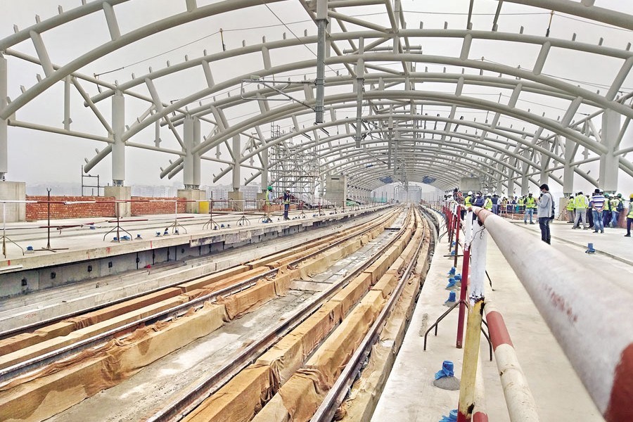
<path fill-rule="evenodd" d="M 424 219 L 420 219 L 420 222 L 423 221 Z M 422 227 L 420 229 L 424 230 L 425 225 L 421 224 L 421 226 Z M 428 224 L 426 225 L 426 227 L 428 228 Z M 369 329 L 369 332 L 365 335 L 365 338 L 363 339 L 357 350 L 354 352 L 354 354 L 352 354 L 352 357 L 350 358 L 349 362 L 347 362 L 347 365 L 345 365 L 345 368 L 340 373 L 337 381 L 329 390 L 324 401 L 321 402 L 319 408 L 316 409 L 316 412 L 312 416 L 312 419 L 310 419 L 310 422 L 331 422 L 333 420 L 336 409 L 338 409 L 340 404 L 345 399 L 348 388 L 350 388 L 350 386 L 354 382 L 356 374 L 361 370 L 364 360 L 366 359 L 366 357 L 369 356 L 369 353 L 371 352 L 371 347 L 378 340 L 383 326 L 385 325 L 385 320 L 388 318 L 397 300 L 400 298 L 402 290 L 404 289 L 404 284 L 409 279 L 409 276 L 411 275 L 411 272 L 413 271 L 414 266 L 418 261 L 418 255 L 420 254 L 420 250 L 422 249 L 423 245 L 424 238 L 421 238 L 420 243 L 416 248 L 416 253 L 414 254 L 414 257 L 411 259 L 411 262 L 409 262 L 409 265 L 404 271 L 404 274 L 402 274 L 402 277 L 400 277 L 398 285 L 396 286 L 394 292 L 390 295 L 389 300 L 385 304 L 385 307 L 383 307 L 381 313 L 378 314 L 376 321 L 373 322 L 371 328 Z"/>

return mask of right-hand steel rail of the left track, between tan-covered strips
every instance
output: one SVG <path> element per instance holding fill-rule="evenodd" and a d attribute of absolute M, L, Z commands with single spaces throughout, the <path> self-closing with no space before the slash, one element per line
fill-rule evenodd
<path fill-rule="evenodd" d="M 372 224 L 366 229 L 363 229 L 360 231 L 354 231 L 352 234 L 345 236 L 341 238 L 339 241 L 335 241 L 334 243 L 331 243 L 330 245 L 327 245 L 323 249 L 317 250 L 315 252 L 311 252 L 308 255 L 300 257 L 297 260 L 293 260 L 292 262 L 290 262 L 290 265 L 299 264 L 300 262 L 304 260 L 314 257 L 315 255 L 318 255 L 324 250 L 327 250 L 329 248 L 334 248 L 335 246 L 340 245 L 341 243 L 344 243 L 345 241 L 349 241 L 351 238 L 362 236 L 363 234 L 366 234 L 366 232 L 375 229 L 376 226 L 383 224 L 386 220 L 390 218 L 391 215 L 394 215 L 394 214 L 395 212 L 391 212 L 390 214 L 386 215 L 382 219 L 378 220 L 378 222 L 376 222 L 375 224 Z M 255 284 L 257 284 L 257 280 L 267 278 L 269 276 L 273 276 L 278 271 L 279 271 L 278 268 L 270 269 L 269 271 L 265 271 L 262 274 L 257 274 L 257 276 L 252 276 L 243 281 L 238 281 L 237 283 L 234 283 L 233 285 L 228 286 L 226 288 L 215 290 L 212 293 L 200 296 L 200 298 L 190 300 L 189 302 L 182 303 L 181 305 L 176 305 L 169 309 L 164 309 L 160 312 L 157 312 L 156 314 L 148 315 L 136 321 L 129 322 L 128 324 L 124 324 L 123 326 L 112 328 L 98 335 L 94 335 L 90 338 L 80 340 L 77 343 L 73 343 L 72 345 L 61 347 L 57 350 L 52 350 L 51 352 L 41 354 L 40 356 L 27 359 L 24 362 L 7 366 L 4 369 L 0 369 L 0 382 L 7 381 L 8 379 L 11 379 L 11 378 L 15 378 L 16 376 L 19 376 L 20 374 L 23 374 L 23 373 L 33 371 L 34 369 L 40 368 L 41 366 L 51 364 L 52 362 L 55 362 L 59 359 L 63 359 L 64 357 L 68 357 L 72 354 L 76 354 L 90 347 L 97 347 L 98 345 L 106 343 L 109 340 L 113 340 L 114 338 L 117 338 L 117 336 L 130 333 L 134 331 L 136 328 L 140 328 L 141 326 L 155 324 L 158 321 L 162 321 L 162 322 L 171 321 L 172 319 L 175 319 L 178 316 L 186 314 L 186 312 L 188 312 L 189 309 L 192 309 L 192 308 L 198 309 L 199 307 L 203 307 L 204 303 L 207 301 L 212 302 L 212 303 L 216 302 L 218 296 L 226 297 L 226 296 L 241 292 L 242 290 L 245 290 L 246 288 L 255 286 Z"/>

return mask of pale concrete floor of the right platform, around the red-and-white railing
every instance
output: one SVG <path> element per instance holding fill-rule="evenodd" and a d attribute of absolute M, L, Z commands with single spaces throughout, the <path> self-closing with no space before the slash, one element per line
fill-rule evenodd
<path fill-rule="evenodd" d="M 511 221 L 511 220 L 509 220 Z M 516 222 L 540 242 L 539 226 Z M 623 237 L 623 229 L 606 229 L 604 234 L 589 230 L 573 230 L 572 224 L 554 222 L 551 227 L 552 248 L 565 252 L 579 266 L 589 271 L 615 271 L 622 274 L 622 286 L 633 290 L 633 245 L 631 238 Z M 587 243 L 594 243 L 595 254 L 584 253 Z M 525 245 L 529 257 L 530 245 Z M 385 390 L 378 402 L 372 421 L 439 421 L 457 408 L 459 391 L 440 390 L 433 386 L 433 375 L 442 367 L 442 361 L 452 360 L 455 374 L 461 377 L 463 350 L 456 349 L 457 310 L 440 323 L 437 337 L 428 337 L 427 350 L 423 350 L 423 335 L 438 316 L 447 310 L 443 306 L 449 292 L 447 271 L 452 259 L 442 257 L 447 251 L 446 238 L 435 250 L 426 282 L 411 319 L 409 331 L 397 355 Z M 534 262 L 540 271 L 539 262 Z M 551 269 L 556 271 L 556 269 Z M 458 272 L 461 272 L 461 260 Z M 487 271 L 494 291 L 486 286 L 486 297 L 492 298 L 503 314 L 516 347 L 518 360 L 535 398 L 542 421 L 603 421 L 573 371 L 561 347 L 549 331 L 535 305 L 518 281 L 492 238 L 488 238 Z M 617 304 L 614 304 L 617 305 Z M 628 306 L 621 304 L 620 306 Z M 596 339 L 597 340 L 597 339 Z M 604 339 L 603 339 L 604 340 Z M 489 352 L 482 336 L 480 357 L 485 383 L 485 404 L 490 421 L 509 421 L 506 403 L 499 381 L 497 364 L 488 360 Z"/>

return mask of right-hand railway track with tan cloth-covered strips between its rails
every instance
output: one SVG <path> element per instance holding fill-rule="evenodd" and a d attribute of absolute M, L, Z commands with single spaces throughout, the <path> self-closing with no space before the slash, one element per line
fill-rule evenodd
<path fill-rule="evenodd" d="M 426 262 L 429 234 L 428 226 L 416 214 L 362 272 L 350 274 L 341 286 L 322 293 L 318 303 L 297 309 L 290 321 L 264 335 L 266 347 L 252 345 L 235 357 L 230 368 L 198 380 L 147 420 L 307 421 L 312 417 L 314 421 L 331 421 L 395 305 L 402 302 L 407 283 L 412 303 L 419 274 L 416 283 L 411 279 L 423 247 Z M 327 300 L 333 290 L 338 293 Z M 332 318 L 333 314 L 338 317 Z M 295 328 L 290 331 L 292 325 Z M 257 356 L 256 350 L 270 347 L 272 342 L 274 347 Z M 341 347 L 345 343 L 355 349 Z M 345 369 L 341 372 L 342 366 Z"/>

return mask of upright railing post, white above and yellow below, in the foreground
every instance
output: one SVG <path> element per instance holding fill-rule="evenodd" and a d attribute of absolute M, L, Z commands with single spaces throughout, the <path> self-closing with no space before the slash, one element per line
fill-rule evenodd
<path fill-rule="evenodd" d="M 481 320 L 485 300 L 484 279 L 486 271 L 487 236 L 484 227 L 473 222 L 470 212 L 466 216 L 466 238 L 464 239 L 464 245 L 468 243 L 470 244 L 473 263 L 471 268 L 471 295 L 470 298 L 468 298 L 468 322 L 466 324 L 466 344 L 463 350 L 457 422 L 471 421 L 473 416 L 473 409 L 475 407 L 475 379 L 477 376 L 480 348 L 479 340 L 481 337 Z M 464 284 L 462 279 L 462 288 Z"/>

